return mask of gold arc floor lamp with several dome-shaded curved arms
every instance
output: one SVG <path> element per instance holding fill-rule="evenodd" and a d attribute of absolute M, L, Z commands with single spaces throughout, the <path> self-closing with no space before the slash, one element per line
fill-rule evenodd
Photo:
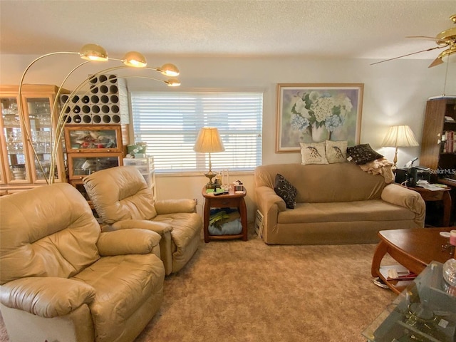
<path fill-rule="evenodd" d="M 63 78 L 63 81 L 61 85 L 58 87 L 58 91 L 56 93 L 56 98 L 51 105 L 51 165 L 49 167 L 49 172 L 48 172 L 48 177 L 46 178 L 46 182 L 48 183 L 53 183 L 55 181 L 55 175 L 54 175 L 54 169 L 56 167 L 56 156 L 58 153 L 58 145 L 61 143 L 61 138 L 63 135 L 63 127 L 66 124 L 66 110 L 68 108 L 68 105 L 70 103 L 71 98 L 73 98 L 73 95 L 76 93 L 81 93 L 83 88 L 87 86 L 90 83 L 90 80 L 93 79 L 93 77 L 99 76 L 103 73 L 110 73 L 113 71 L 118 71 L 121 69 L 125 68 L 140 68 L 143 71 L 151 70 L 151 71 L 157 71 L 159 73 L 162 73 L 162 75 L 170 77 L 167 80 L 161 80 L 159 78 L 152 78 L 150 76 L 145 76 L 142 74 L 132 74 L 128 76 L 115 76 L 115 78 L 147 78 L 151 79 L 154 81 L 160 81 L 162 83 L 167 84 L 167 86 L 180 86 L 180 82 L 175 78 L 175 76 L 179 75 L 179 69 L 170 63 L 166 63 L 161 67 L 148 67 L 147 66 L 147 61 L 144 56 L 142 56 L 142 53 L 139 53 L 137 51 L 130 51 L 125 54 L 123 59 L 118 59 L 118 58 L 108 58 L 108 53 L 105 51 L 105 49 L 102 46 L 96 45 L 96 44 L 86 44 L 81 48 L 81 51 L 79 52 L 66 52 L 66 51 L 60 51 L 60 52 L 53 52 L 53 53 L 46 53 L 43 56 L 40 56 L 33 60 L 30 64 L 28 64 L 27 68 L 25 69 L 24 73 L 21 76 L 21 81 L 19 83 L 19 99 L 21 99 L 21 93 L 22 93 L 22 88 L 24 86 L 24 80 L 26 77 L 26 74 L 28 70 L 35 64 L 37 61 L 40 61 L 43 58 L 46 58 L 48 56 L 53 56 L 53 55 L 60 55 L 60 54 L 66 54 L 66 55 L 79 55 L 84 61 L 83 63 L 78 64 L 75 68 L 73 68 L 66 76 Z M 88 78 L 84 79 L 72 92 L 70 95 L 68 95 L 68 100 L 66 103 L 63 103 L 62 108 L 58 110 L 58 98 L 61 95 L 61 91 L 63 90 L 63 86 L 65 85 L 66 81 L 68 78 L 78 69 L 81 68 L 81 66 L 84 66 L 86 63 L 90 63 L 93 61 L 120 61 L 123 63 L 123 66 L 116 66 L 112 68 L 106 68 L 103 69 L 102 71 L 98 71 L 98 73 L 94 73 L 93 75 L 88 76 Z M 111 80 L 112 81 L 112 80 Z M 88 90 L 89 91 L 89 90 Z M 87 92 L 88 93 L 88 92 Z M 26 120 L 24 110 L 22 108 L 22 103 L 21 100 L 19 100 L 18 103 L 18 109 L 19 109 L 19 115 L 21 115 L 21 119 Z M 56 120 L 57 117 L 57 120 Z M 53 130 L 53 124 L 56 120 L 56 128 Z M 38 158 L 38 155 L 36 153 L 35 148 L 33 147 L 33 142 L 31 140 L 31 133 L 26 129 L 24 131 L 26 135 L 26 140 L 29 145 L 31 145 L 31 150 L 33 150 L 33 154 L 36 158 L 36 162 L 41 168 L 41 172 L 43 172 L 43 175 L 46 175 L 46 173 L 43 170 L 43 166 L 41 165 L 41 161 Z"/>

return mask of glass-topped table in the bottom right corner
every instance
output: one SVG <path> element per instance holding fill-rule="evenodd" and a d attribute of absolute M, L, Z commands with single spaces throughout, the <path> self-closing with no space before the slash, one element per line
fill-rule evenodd
<path fill-rule="evenodd" d="M 432 261 L 363 336 L 371 342 L 455 342 L 456 291 Z"/>

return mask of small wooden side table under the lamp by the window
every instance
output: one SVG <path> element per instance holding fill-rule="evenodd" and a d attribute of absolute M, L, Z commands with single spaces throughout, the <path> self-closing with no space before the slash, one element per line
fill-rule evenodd
<path fill-rule="evenodd" d="M 206 187 L 202 188 L 202 196 L 204 197 L 204 242 L 211 240 L 227 240 L 227 239 L 241 239 L 247 241 L 247 206 L 245 205 L 244 197 L 247 195 L 245 187 L 242 192 L 235 192 L 233 188 L 229 190 L 226 195 L 217 195 L 207 193 Z M 237 208 L 241 215 L 242 231 L 241 234 L 229 235 L 210 235 L 209 234 L 209 217 L 211 208 Z"/>

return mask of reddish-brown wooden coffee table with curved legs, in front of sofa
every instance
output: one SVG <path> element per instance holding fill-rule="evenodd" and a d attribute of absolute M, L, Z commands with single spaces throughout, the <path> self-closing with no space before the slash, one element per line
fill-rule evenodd
<path fill-rule="evenodd" d="M 400 294 L 410 281 L 388 280 L 385 272 L 381 272 L 383 267 L 388 268 L 388 266 L 380 267 L 385 254 L 389 254 L 409 271 L 420 274 L 431 261 L 443 264 L 455 257 L 448 252 L 448 249 L 442 249 L 442 245 L 446 244 L 448 239 L 440 236 L 440 232 L 450 232 L 451 229 L 456 227 L 380 230 L 378 232 L 380 242 L 372 259 L 372 276 L 380 277 L 390 289 Z"/>

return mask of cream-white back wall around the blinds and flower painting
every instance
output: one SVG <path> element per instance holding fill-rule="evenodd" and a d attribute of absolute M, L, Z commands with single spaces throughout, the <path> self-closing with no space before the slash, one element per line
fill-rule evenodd
<path fill-rule="evenodd" d="M 0 56 L 0 83 L 17 84 L 24 68 L 36 56 Z M 224 88 L 255 89 L 264 92 L 263 164 L 300 162 L 299 153 L 276 153 L 276 85 L 277 83 L 364 83 L 361 143 L 370 143 L 378 152 L 393 160 L 393 147 L 381 147 L 390 125 L 410 125 L 421 141 L 425 103 L 433 95 L 442 95 L 447 73 L 447 94 L 456 95 L 456 63 L 427 68 L 431 61 L 399 59 L 375 66 L 366 59 L 331 60 L 299 57 L 234 58 L 146 56 L 150 66 L 175 63 L 181 71 L 180 88 L 167 88 L 162 83 L 129 78 L 130 90 L 192 90 Z M 26 83 L 60 84 L 63 77 L 79 63 L 78 56 L 51 56 L 38 61 L 28 72 Z M 114 63 L 114 62 L 110 62 Z M 106 64 L 83 66 L 66 83 L 72 89 L 83 77 L 100 71 Z M 110 64 L 113 66 L 114 64 Z M 151 74 L 160 78 L 159 74 Z M 420 147 L 399 149 L 398 166 L 420 155 Z M 247 187 L 249 218 L 254 213 L 253 177 L 232 175 Z M 190 197 L 198 199 L 202 210 L 201 188 L 204 176 L 158 177 L 159 199 Z"/>

